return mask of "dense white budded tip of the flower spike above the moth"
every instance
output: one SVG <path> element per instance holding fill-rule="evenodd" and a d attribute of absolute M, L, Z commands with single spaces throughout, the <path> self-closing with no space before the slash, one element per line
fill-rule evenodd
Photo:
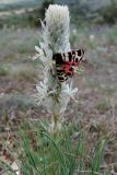
<path fill-rule="evenodd" d="M 45 42 L 54 52 L 62 52 L 70 50 L 70 18 L 67 5 L 49 5 L 46 11 L 46 26 L 44 32 Z"/>

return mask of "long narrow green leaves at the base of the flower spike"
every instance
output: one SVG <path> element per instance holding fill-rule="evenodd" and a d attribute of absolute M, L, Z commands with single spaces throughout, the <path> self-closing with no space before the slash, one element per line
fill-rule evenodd
<path fill-rule="evenodd" d="M 63 126 L 57 132 L 48 131 L 44 121 L 24 122 L 20 129 L 17 165 L 25 175 L 100 175 L 108 136 L 89 142 L 87 131 L 80 125 Z M 75 137 L 74 137 L 75 136 Z M 24 163 L 25 162 L 25 163 Z M 15 174 L 3 165 L 7 174 Z M 10 173 L 11 172 L 11 173 Z"/>

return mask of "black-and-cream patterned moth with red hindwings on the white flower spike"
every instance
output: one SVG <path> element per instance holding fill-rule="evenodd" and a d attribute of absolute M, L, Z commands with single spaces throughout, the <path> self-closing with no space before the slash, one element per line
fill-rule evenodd
<path fill-rule="evenodd" d="M 69 52 L 57 52 L 52 56 L 56 62 L 57 77 L 60 82 L 65 82 L 74 74 L 74 68 L 81 62 L 84 55 L 83 49 L 71 50 Z"/>

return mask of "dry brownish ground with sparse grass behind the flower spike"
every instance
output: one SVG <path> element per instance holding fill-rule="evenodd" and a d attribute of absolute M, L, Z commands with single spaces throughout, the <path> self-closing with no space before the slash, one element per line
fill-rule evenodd
<path fill-rule="evenodd" d="M 36 30 L 0 31 L 0 131 L 12 130 L 24 117 L 47 117 L 32 96 L 39 73 L 31 57 L 38 45 Z M 75 75 L 79 104 L 66 118 L 91 131 L 114 132 L 109 163 L 117 162 L 117 26 L 71 31 L 72 47 L 85 48 L 84 72 Z M 15 127 L 14 127 L 15 125 Z M 116 170 L 115 170 L 116 171 Z"/>

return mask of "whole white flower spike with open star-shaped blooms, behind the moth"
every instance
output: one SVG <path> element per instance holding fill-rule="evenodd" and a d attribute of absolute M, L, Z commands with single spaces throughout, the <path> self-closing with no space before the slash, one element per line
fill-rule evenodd
<path fill-rule="evenodd" d="M 70 98 L 74 100 L 78 89 L 72 89 L 72 83 L 60 83 L 55 77 L 55 52 L 70 50 L 69 43 L 69 10 L 67 5 L 49 5 L 46 11 L 45 21 L 42 22 L 42 42 L 39 47 L 35 46 L 36 55 L 33 59 L 39 58 L 43 66 L 44 82 L 37 89 L 38 104 L 46 106 L 51 115 L 61 115 L 67 108 Z"/>

